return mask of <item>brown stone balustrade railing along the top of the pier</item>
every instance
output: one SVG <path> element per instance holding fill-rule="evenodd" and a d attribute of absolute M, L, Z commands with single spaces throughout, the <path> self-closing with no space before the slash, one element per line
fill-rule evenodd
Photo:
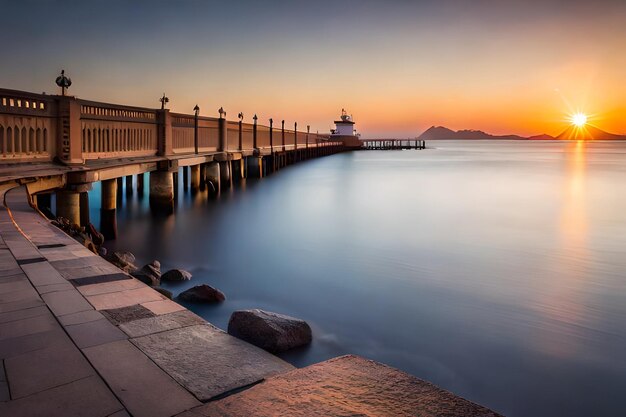
<path fill-rule="evenodd" d="M 220 121 L 221 120 L 221 121 Z M 89 160 L 198 152 L 294 150 L 329 143 L 327 135 L 0 89 L 0 161 Z"/>

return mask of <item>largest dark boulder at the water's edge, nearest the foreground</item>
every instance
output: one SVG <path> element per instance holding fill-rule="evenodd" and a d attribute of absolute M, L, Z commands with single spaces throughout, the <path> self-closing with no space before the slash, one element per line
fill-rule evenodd
<path fill-rule="evenodd" d="M 313 338 L 306 321 L 257 309 L 235 311 L 228 333 L 273 353 L 308 345 Z"/>

